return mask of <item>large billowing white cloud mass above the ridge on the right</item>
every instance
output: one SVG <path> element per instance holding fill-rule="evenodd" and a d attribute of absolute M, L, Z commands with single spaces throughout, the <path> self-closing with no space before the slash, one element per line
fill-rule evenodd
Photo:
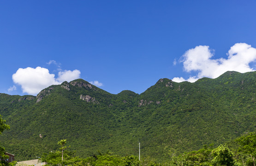
<path fill-rule="evenodd" d="M 196 46 L 185 52 L 181 62 L 186 72 L 196 71 L 197 75 L 188 79 L 174 77 L 175 82 L 195 82 L 202 77 L 216 78 L 226 71 L 238 71 L 241 73 L 255 71 L 250 63 L 256 61 L 256 48 L 246 43 L 236 43 L 227 53 L 227 59 L 211 59 L 214 50 L 209 46 Z"/>

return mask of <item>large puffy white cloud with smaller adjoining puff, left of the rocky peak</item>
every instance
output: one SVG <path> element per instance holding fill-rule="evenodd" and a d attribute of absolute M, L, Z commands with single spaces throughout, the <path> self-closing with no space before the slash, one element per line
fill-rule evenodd
<path fill-rule="evenodd" d="M 78 71 L 60 71 L 59 77 L 56 79 L 54 74 L 50 74 L 49 70 L 42 67 L 36 67 L 36 69 L 27 67 L 25 69 L 19 68 L 16 73 L 12 75 L 14 83 L 21 85 L 23 93 L 30 95 L 37 95 L 42 89 L 47 88 L 50 85 L 56 85 L 62 83 L 62 80 L 69 80 L 68 78 L 77 79 L 80 77 L 77 75 Z M 76 77 L 74 77 L 76 76 Z"/>

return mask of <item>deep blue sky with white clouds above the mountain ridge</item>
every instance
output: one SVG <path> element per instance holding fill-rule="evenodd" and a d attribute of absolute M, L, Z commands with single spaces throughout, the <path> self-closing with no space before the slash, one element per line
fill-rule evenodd
<path fill-rule="evenodd" d="M 0 93 L 82 78 L 138 94 L 256 70 L 255 0 L 2 0 Z"/>

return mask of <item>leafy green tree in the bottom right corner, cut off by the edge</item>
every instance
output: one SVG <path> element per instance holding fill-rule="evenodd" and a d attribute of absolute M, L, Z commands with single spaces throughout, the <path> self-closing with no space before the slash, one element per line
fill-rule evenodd
<path fill-rule="evenodd" d="M 253 165 L 255 166 L 255 158 L 256 158 L 256 134 L 249 133 L 246 136 L 242 136 L 237 139 L 240 147 L 239 151 L 250 155 Z"/>

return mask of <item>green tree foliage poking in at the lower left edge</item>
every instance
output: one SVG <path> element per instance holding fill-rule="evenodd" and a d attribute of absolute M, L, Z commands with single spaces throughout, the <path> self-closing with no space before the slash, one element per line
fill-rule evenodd
<path fill-rule="evenodd" d="M 4 130 L 9 130 L 10 126 L 6 125 L 6 120 L 2 119 L 2 116 L 0 115 L 0 134 Z M 8 159 L 9 156 L 5 154 L 5 148 L 0 146 L 0 166 L 14 166 L 17 162 L 12 161 L 10 163 L 6 162 L 6 159 Z"/>

